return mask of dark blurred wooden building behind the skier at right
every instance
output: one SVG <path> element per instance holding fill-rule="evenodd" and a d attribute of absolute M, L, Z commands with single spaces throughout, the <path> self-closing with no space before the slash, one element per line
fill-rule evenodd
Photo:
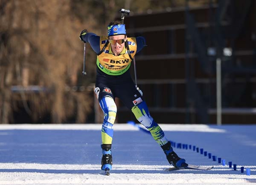
<path fill-rule="evenodd" d="M 219 0 L 125 17 L 128 36 L 147 41 L 135 57 L 137 82 L 157 123 L 216 124 L 217 58 L 222 123 L 256 123 L 255 7 Z M 136 121 L 121 102 L 117 116 L 118 123 Z"/>

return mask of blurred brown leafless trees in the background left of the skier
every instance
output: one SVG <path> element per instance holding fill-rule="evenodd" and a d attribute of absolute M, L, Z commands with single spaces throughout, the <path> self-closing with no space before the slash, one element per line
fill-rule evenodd
<path fill-rule="evenodd" d="M 8 0 L 0 2 L 1 123 L 11 122 L 14 97 L 29 100 L 34 119 L 49 111 L 53 123 L 62 123 L 78 111 L 84 122 L 91 107 L 89 93 L 70 92 L 81 70 L 81 21 L 72 16 L 70 0 Z M 87 83 L 89 84 L 89 83 Z M 39 94 L 14 96 L 11 87 L 37 85 Z M 85 82 L 86 85 L 86 82 Z"/>

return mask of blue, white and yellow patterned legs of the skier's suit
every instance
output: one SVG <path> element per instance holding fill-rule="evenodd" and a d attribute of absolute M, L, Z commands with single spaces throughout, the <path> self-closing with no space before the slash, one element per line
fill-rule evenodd
<path fill-rule="evenodd" d="M 135 89 L 136 90 L 136 89 Z M 112 144 L 113 139 L 113 125 L 116 119 L 116 103 L 114 101 L 114 93 L 110 88 L 95 88 L 95 93 L 98 95 L 100 107 L 104 113 L 104 120 L 101 129 L 102 144 Z M 131 107 L 132 113 L 136 119 L 144 125 L 151 133 L 155 141 L 163 146 L 168 142 L 164 136 L 163 130 L 150 116 L 148 111 L 148 106 L 146 102 L 142 99 L 140 94 L 137 94 L 130 100 L 131 103 L 127 107 Z M 101 96 L 99 96 L 101 94 Z M 104 95 L 104 96 L 102 96 Z M 127 96 L 126 96 L 127 97 Z M 121 99 L 122 100 L 122 99 Z"/>

